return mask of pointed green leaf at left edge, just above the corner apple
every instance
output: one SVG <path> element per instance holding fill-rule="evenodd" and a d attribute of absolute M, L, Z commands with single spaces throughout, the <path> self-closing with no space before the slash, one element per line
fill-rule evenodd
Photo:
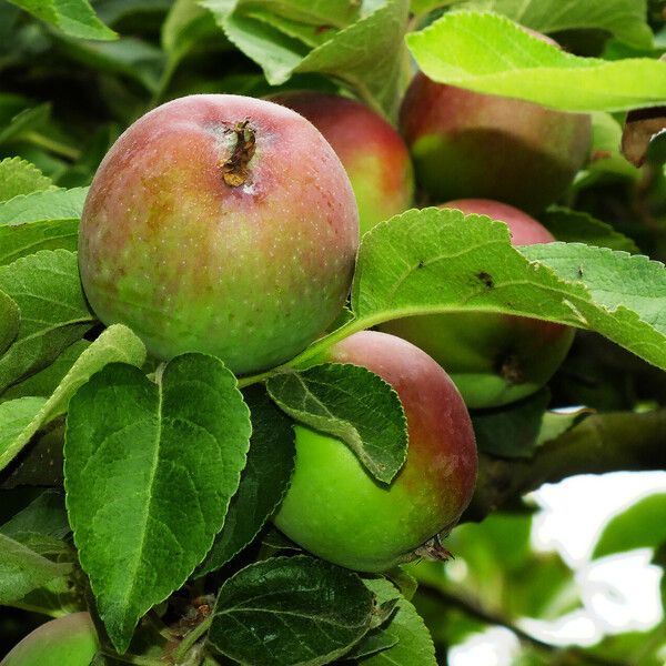
<path fill-rule="evenodd" d="M 71 569 L 71 564 L 50 562 L 19 542 L 0 534 L 0 604 L 18 602 Z"/>

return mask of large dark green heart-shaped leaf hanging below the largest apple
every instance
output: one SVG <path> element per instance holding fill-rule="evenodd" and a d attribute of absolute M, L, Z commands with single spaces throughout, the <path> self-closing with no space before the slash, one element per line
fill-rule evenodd
<path fill-rule="evenodd" d="M 119 652 L 210 549 L 245 465 L 250 413 L 221 361 L 184 354 L 153 384 L 111 364 L 70 401 L 67 507 Z"/>

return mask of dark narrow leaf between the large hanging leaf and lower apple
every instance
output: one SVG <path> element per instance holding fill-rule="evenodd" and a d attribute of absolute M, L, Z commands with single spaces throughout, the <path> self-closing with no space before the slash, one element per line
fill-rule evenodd
<path fill-rule="evenodd" d="M 291 418 L 273 404 L 261 386 L 246 389 L 243 397 L 252 418 L 248 464 L 239 490 L 229 503 L 222 532 L 198 567 L 198 576 L 219 569 L 254 539 L 284 497 L 294 468 Z"/>

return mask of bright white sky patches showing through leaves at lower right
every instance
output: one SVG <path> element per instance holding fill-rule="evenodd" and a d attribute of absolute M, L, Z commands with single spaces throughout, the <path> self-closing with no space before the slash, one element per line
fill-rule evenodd
<path fill-rule="evenodd" d="M 534 547 L 561 553 L 575 571 L 584 607 L 557 622 L 524 619 L 521 628 L 547 643 L 594 645 L 605 634 L 645 630 L 660 622 L 662 569 L 649 564 L 650 549 L 589 559 L 610 516 L 659 492 L 666 492 L 666 472 L 572 476 L 532 493 L 541 507 Z M 515 636 L 495 627 L 453 648 L 450 666 L 508 666 L 517 649 Z"/>

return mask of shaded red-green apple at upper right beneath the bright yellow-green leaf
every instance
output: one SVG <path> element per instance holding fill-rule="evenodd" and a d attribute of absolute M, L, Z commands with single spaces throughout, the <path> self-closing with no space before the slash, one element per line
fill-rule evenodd
<path fill-rule="evenodd" d="M 554 202 L 585 164 L 588 114 L 435 83 L 417 73 L 400 125 L 432 201 L 494 199 L 527 211 Z"/>

